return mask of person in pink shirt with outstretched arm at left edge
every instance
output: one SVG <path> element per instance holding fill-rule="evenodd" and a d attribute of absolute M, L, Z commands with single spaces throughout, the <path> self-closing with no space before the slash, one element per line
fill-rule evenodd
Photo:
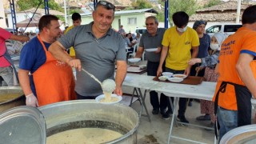
<path fill-rule="evenodd" d="M 16 79 L 18 80 L 18 75 L 6 48 L 7 39 L 27 42 L 30 38 L 24 35 L 11 34 L 0 27 L 0 76 L 6 82 L 7 86 L 14 86 L 14 81 L 16 81 Z M 14 75 L 16 79 L 14 79 Z M 2 81 L 0 81 L 0 86 L 2 86 Z"/>

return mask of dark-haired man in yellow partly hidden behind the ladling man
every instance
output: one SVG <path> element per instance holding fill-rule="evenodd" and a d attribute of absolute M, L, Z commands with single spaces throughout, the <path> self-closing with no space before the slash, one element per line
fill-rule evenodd
<path fill-rule="evenodd" d="M 69 30 L 73 29 L 74 26 L 80 26 L 81 25 L 81 15 L 78 13 L 74 13 L 72 14 L 72 20 L 73 20 L 73 26 L 70 26 L 68 28 L 66 28 L 64 34 L 66 34 Z M 70 56 L 72 58 L 75 58 L 75 53 L 74 53 L 74 47 L 70 47 Z"/>

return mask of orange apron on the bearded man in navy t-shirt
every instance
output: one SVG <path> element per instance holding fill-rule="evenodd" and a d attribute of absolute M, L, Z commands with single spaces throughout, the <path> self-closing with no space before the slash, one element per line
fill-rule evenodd
<path fill-rule="evenodd" d="M 33 74 L 34 86 L 38 97 L 39 106 L 54 102 L 74 100 L 74 75 L 66 62 L 56 60 L 38 35 L 43 49 L 46 52 L 46 62 Z"/>

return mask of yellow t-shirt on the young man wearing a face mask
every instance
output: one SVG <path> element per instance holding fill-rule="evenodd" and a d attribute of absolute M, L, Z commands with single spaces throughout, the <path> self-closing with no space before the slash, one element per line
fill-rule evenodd
<path fill-rule="evenodd" d="M 162 46 L 168 46 L 166 67 L 173 70 L 185 70 L 191 58 L 191 47 L 199 46 L 198 34 L 187 27 L 186 31 L 179 35 L 176 26 L 166 30 L 162 38 Z"/>

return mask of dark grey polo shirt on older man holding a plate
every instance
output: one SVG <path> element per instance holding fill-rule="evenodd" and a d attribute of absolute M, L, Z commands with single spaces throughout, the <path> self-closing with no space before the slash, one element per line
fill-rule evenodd
<path fill-rule="evenodd" d="M 147 31 L 146 33 L 142 34 L 142 38 L 140 39 L 139 45 L 146 49 L 157 48 L 158 46 L 162 47 L 162 37 L 165 33 L 165 28 L 158 28 L 157 34 L 154 36 L 150 35 Z M 161 53 L 155 54 L 152 52 L 145 51 L 145 55 L 148 61 L 150 62 L 159 62 Z"/>

